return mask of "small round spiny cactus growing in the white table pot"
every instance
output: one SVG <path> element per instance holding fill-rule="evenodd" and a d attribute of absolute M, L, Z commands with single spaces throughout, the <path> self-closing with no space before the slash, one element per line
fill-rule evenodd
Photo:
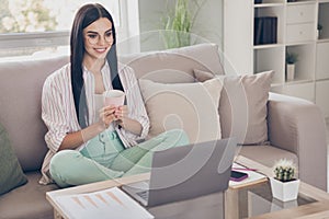
<path fill-rule="evenodd" d="M 288 182 L 295 180 L 297 168 L 292 160 L 281 159 L 274 166 L 274 178 L 281 182 Z"/>

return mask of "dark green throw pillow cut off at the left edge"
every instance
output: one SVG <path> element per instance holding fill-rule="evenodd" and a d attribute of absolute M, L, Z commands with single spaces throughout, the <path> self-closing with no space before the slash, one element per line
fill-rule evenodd
<path fill-rule="evenodd" d="M 11 147 L 8 134 L 0 124 L 0 195 L 27 182 Z"/>

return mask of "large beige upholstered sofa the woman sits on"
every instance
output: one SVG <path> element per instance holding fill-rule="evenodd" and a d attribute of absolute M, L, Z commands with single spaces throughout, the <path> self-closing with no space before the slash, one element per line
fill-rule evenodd
<path fill-rule="evenodd" d="M 8 130 L 15 154 L 29 178 L 27 184 L 0 196 L 0 218 L 53 218 L 45 193 L 57 189 L 57 186 L 37 183 L 47 151 L 44 141 L 46 127 L 41 119 L 41 94 L 45 78 L 67 61 L 67 57 L 48 57 L 0 64 L 0 123 Z M 137 78 L 161 83 L 193 83 L 195 69 L 224 72 L 220 65 L 223 60 L 218 56 L 217 46 L 213 44 L 129 55 L 122 57 L 121 61 L 133 67 Z M 268 129 L 264 131 L 269 141 L 243 146 L 241 153 L 268 166 L 279 158 L 294 159 L 303 181 L 327 189 L 326 131 L 318 107 L 300 99 L 273 93 L 266 105 Z M 223 137 L 234 135 L 234 129 L 229 131 L 225 128 L 230 125 L 224 123 L 220 104 L 219 116 Z"/>

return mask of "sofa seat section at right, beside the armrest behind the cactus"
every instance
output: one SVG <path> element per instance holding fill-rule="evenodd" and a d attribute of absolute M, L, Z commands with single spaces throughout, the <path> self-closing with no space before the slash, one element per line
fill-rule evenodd
<path fill-rule="evenodd" d="M 273 146 L 242 146 L 239 154 L 269 168 L 272 168 L 276 161 L 284 158 L 298 164 L 298 158 L 295 153 Z"/>

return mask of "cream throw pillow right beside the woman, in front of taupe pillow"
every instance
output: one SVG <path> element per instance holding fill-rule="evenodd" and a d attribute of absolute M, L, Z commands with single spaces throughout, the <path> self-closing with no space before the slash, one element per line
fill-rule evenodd
<path fill-rule="evenodd" d="M 150 119 L 149 136 L 181 128 L 191 142 L 222 138 L 218 115 L 222 84 L 219 79 L 204 83 L 158 83 L 139 79 Z"/>

